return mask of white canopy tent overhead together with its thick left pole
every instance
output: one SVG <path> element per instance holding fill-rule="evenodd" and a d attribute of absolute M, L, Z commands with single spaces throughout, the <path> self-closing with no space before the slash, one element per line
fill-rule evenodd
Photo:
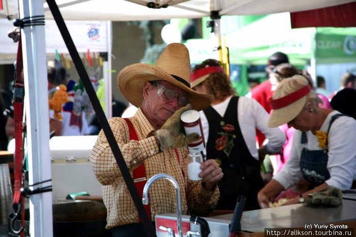
<path fill-rule="evenodd" d="M 279 12 L 294 12 L 328 6 L 335 6 L 354 0 L 190 0 L 190 1 L 158 1 L 159 5 L 172 5 L 168 8 L 149 9 L 149 1 L 124 0 L 58 0 L 56 1 L 65 20 L 159 20 L 171 18 L 200 18 L 210 16 L 211 11 L 219 11 L 219 15 L 261 15 Z M 4 9 L 0 10 L 2 18 L 17 18 L 16 0 L 3 0 Z M 47 4 L 41 0 L 22 0 L 19 6 L 20 18 L 45 15 L 51 19 Z M 50 161 L 41 159 L 49 157 L 47 117 L 48 98 L 46 85 L 45 63 L 45 30 L 43 25 L 22 29 L 22 46 L 24 57 L 25 99 L 27 118 L 27 142 L 29 160 L 29 183 L 37 183 L 50 179 Z M 40 185 L 41 186 L 41 185 Z M 30 232 L 32 236 L 51 237 L 52 210 L 51 193 L 32 195 L 30 198 Z"/>

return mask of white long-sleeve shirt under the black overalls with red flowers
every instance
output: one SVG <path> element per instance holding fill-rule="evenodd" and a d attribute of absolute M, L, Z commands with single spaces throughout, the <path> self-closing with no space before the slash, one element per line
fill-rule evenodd
<path fill-rule="evenodd" d="M 232 96 L 225 99 L 222 103 L 212 106 L 222 117 L 225 114 L 227 106 Z M 203 111 L 200 111 L 201 124 L 203 126 L 205 144 L 209 138 L 209 123 Z M 285 143 L 285 134 L 278 127 L 268 127 L 267 121 L 269 114 L 263 107 L 252 98 L 241 96 L 238 103 L 238 117 L 241 133 L 244 137 L 245 143 L 251 155 L 258 160 L 258 151 L 256 146 L 256 128 L 265 134 L 269 142 L 266 148 L 272 152 L 277 153 L 281 150 Z M 206 154 L 206 150 L 204 150 Z"/>

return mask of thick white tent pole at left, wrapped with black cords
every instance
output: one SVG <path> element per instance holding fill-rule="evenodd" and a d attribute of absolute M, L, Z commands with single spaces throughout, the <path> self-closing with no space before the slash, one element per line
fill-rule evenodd
<path fill-rule="evenodd" d="M 21 18 L 43 16 L 43 1 L 19 1 L 19 10 Z M 25 26 L 22 33 L 28 182 L 31 185 L 51 179 L 45 27 Z M 47 182 L 32 189 L 49 185 L 51 184 Z M 51 192 L 31 195 L 29 215 L 31 236 L 53 236 Z"/>

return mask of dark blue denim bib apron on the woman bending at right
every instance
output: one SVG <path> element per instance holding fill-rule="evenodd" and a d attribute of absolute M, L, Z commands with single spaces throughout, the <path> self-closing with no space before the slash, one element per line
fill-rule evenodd
<path fill-rule="evenodd" d="M 329 128 L 327 132 L 327 136 L 329 134 L 329 130 L 331 124 L 340 116 L 345 116 L 344 114 L 336 114 L 334 115 L 329 123 Z M 301 143 L 307 144 L 307 135 L 305 132 L 302 132 Z M 328 139 L 327 139 L 328 145 Z M 307 148 L 303 148 L 300 160 L 301 172 L 303 174 L 304 179 L 310 182 L 310 187 L 316 187 L 325 182 L 325 180 L 330 179 L 330 173 L 327 168 L 328 165 L 328 147 L 324 150 L 308 150 Z"/>

